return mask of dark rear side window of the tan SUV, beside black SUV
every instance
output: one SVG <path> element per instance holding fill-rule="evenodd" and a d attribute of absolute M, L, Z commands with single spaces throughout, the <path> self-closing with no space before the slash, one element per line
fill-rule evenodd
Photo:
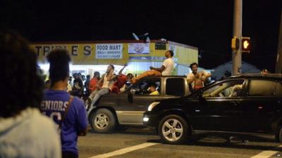
<path fill-rule="evenodd" d="M 183 78 L 166 79 L 166 95 L 170 96 L 184 96 L 185 85 Z"/>

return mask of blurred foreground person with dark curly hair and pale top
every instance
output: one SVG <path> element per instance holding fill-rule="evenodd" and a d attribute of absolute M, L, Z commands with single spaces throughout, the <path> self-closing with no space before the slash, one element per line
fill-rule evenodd
<path fill-rule="evenodd" d="M 44 83 L 26 39 L 0 31 L 0 157 L 61 157 L 56 126 L 39 112 Z"/>

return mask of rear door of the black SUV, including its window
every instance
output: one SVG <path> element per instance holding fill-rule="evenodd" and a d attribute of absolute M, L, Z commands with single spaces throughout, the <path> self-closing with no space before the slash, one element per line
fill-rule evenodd
<path fill-rule="evenodd" d="M 243 132 L 271 133 L 281 119 L 281 81 L 250 79 L 247 96 L 239 117 Z"/>

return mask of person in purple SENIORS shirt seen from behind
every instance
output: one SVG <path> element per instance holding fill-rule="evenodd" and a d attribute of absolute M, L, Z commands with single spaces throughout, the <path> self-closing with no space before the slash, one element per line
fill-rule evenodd
<path fill-rule="evenodd" d="M 68 51 L 55 49 L 47 55 L 47 60 L 50 87 L 44 93 L 41 110 L 61 130 L 62 157 L 78 157 L 78 136 L 86 135 L 88 122 L 82 100 L 66 92 L 71 58 Z"/>

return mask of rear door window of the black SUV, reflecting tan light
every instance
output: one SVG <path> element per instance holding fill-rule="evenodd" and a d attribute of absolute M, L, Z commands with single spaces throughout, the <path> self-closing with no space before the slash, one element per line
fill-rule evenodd
<path fill-rule="evenodd" d="M 250 80 L 249 96 L 274 96 L 276 81 L 271 80 Z"/>

